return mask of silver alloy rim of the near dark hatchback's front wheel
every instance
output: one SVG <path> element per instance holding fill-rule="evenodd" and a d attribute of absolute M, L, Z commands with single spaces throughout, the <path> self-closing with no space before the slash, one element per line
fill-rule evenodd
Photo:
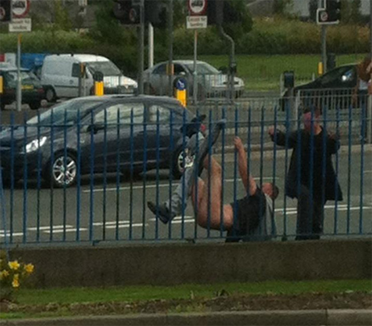
<path fill-rule="evenodd" d="M 54 184 L 58 187 L 72 185 L 76 180 L 76 172 L 75 160 L 70 155 L 67 155 L 65 164 L 64 155 L 60 155 L 53 163 L 52 176 Z"/>

